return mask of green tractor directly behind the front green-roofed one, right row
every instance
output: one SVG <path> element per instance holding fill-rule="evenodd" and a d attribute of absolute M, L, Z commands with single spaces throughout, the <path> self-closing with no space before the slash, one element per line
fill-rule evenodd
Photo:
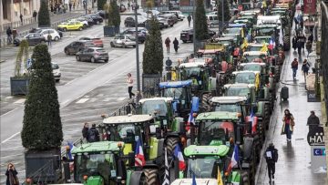
<path fill-rule="evenodd" d="M 245 184 L 254 184 L 256 165 L 260 161 L 261 146 L 258 139 L 251 135 L 251 121 L 243 122 L 240 113 L 215 111 L 200 113 L 196 118 L 195 131 L 191 131 L 191 144 L 193 137 L 195 143 L 200 146 L 229 147 L 229 155 L 232 155 L 234 145 L 240 147 L 241 170 L 245 171 Z M 195 135 L 194 135 L 195 134 Z"/>

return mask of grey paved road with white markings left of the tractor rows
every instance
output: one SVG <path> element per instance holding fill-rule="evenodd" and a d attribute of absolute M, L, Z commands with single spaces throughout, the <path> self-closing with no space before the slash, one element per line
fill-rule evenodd
<path fill-rule="evenodd" d="M 171 38 L 176 36 L 179 38 L 179 31 L 187 26 L 187 21 L 184 21 L 179 22 L 172 28 L 163 30 L 163 39 L 167 36 Z M 85 33 L 88 35 L 97 35 L 98 33 L 102 33 L 101 30 L 101 26 L 96 26 L 82 33 L 83 35 Z M 74 34 L 80 36 L 79 32 L 75 32 Z M 74 34 L 72 33 L 72 35 Z M 111 113 L 124 105 L 128 100 L 126 74 L 131 72 L 133 77 L 136 77 L 134 48 L 109 48 L 109 38 L 104 38 L 105 49 L 108 50 L 110 57 L 108 64 L 77 63 L 75 57 L 66 57 L 63 53 L 63 47 L 77 38 L 78 36 L 75 35 L 64 38 L 63 41 L 56 43 L 50 49 L 53 61 L 59 64 L 64 76 L 62 82 L 57 84 L 65 137 L 63 145 L 67 143 L 67 140 L 73 141 L 80 137 L 84 122 L 100 122 L 100 115 L 102 113 Z M 141 60 L 143 47 L 143 45 L 140 45 L 139 49 Z M 185 57 L 190 54 L 191 47 L 192 44 L 181 44 L 179 49 L 183 53 L 165 53 L 165 56 L 171 58 Z M 5 71 L 4 73 L 3 71 L 1 72 L 1 80 L 6 77 L 2 83 L 8 87 L 8 77 L 12 74 L 14 68 L 13 61 L 6 61 L 0 67 Z M 5 90 L 4 87 L 1 91 L 1 93 L 4 91 L 2 99 L 13 99 L 8 94 L 9 89 Z M 2 119 L 1 130 L 6 130 L 1 133 L 0 170 L 5 170 L 5 164 L 7 162 L 14 161 L 17 170 L 19 170 L 19 177 L 22 178 L 25 176 L 25 166 L 19 131 L 22 128 L 24 98 L 15 98 L 14 102 L 17 102 L 14 106 L 15 109 L 0 117 Z M 7 108 L 10 106 L 13 107 L 13 103 L 9 103 Z M 3 179 L 0 181 L 3 182 Z"/>

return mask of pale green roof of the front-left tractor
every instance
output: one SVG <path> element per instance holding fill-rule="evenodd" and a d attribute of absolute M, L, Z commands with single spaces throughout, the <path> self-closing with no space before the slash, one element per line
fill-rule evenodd
<path fill-rule="evenodd" d="M 124 142 L 116 141 L 99 141 L 99 142 L 90 142 L 84 143 L 81 146 L 74 147 L 72 149 L 72 154 L 84 153 L 84 152 L 101 152 L 101 151 L 118 151 L 118 143 L 124 147 Z"/>

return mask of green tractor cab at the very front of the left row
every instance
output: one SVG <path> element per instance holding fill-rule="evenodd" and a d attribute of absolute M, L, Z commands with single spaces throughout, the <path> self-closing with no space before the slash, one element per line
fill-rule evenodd
<path fill-rule="evenodd" d="M 71 151 L 74 158 L 74 181 L 84 184 L 124 183 L 129 178 L 122 159 L 124 142 L 84 143 Z"/>

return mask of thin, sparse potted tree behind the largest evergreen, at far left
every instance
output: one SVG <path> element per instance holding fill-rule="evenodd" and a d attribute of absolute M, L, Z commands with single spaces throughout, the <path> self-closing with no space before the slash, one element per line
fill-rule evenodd
<path fill-rule="evenodd" d="M 29 74 L 27 70 L 27 60 L 29 60 L 29 46 L 27 40 L 23 40 L 18 49 L 15 60 L 14 77 L 10 77 L 11 95 L 27 95 Z"/>

